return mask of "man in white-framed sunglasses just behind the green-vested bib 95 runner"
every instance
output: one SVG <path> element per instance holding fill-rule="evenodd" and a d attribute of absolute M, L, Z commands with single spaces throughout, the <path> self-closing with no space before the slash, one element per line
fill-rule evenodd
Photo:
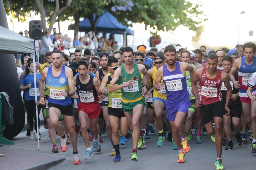
<path fill-rule="evenodd" d="M 151 69 L 152 67 L 148 66 L 147 64 L 144 64 L 144 55 L 143 53 L 136 53 L 135 54 L 135 63 L 137 64 L 143 64 L 146 68 L 146 70 L 149 70 Z M 141 74 L 141 78 L 142 78 L 142 81 L 143 81 L 143 74 Z M 143 86 L 143 84 L 142 84 Z M 153 103 L 152 103 L 152 91 L 154 90 L 154 87 L 153 87 L 153 79 L 150 77 L 150 79 L 148 79 L 147 81 L 147 93 L 148 93 L 148 97 L 149 97 L 149 100 L 147 101 L 147 108 L 144 108 L 144 111 L 143 111 L 143 116 L 142 116 L 142 121 L 140 122 L 141 123 L 141 127 L 144 128 L 146 130 L 146 134 L 145 134 L 145 139 L 150 139 L 150 136 L 148 134 L 148 129 L 147 129 L 147 124 L 148 122 L 149 123 L 154 123 L 155 120 L 154 120 L 154 108 L 153 108 Z M 139 141 L 141 142 L 141 141 Z"/>

